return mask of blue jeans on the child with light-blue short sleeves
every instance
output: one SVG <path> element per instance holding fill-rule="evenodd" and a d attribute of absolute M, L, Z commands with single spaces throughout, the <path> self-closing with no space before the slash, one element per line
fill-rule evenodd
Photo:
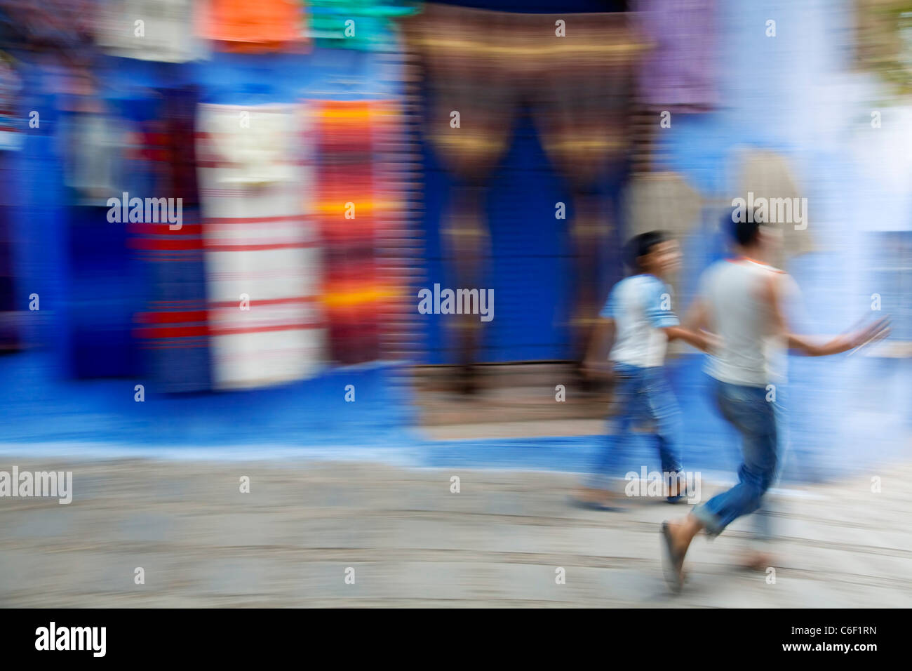
<path fill-rule="evenodd" d="M 655 440 L 664 473 L 681 470 L 679 452 L 680 413 L 675 395 L 668 386 L 661 366 L 639 368 L 615 364 L 617 413 L 608 418 L 605 447 L 596 457 L 588 487 L 606 488 L 606 480 L 618 475 L 628 441 L 630 427 L 641 422 L 653 425 L 650 437 Z M 630 470 L 627 464 L 627 470 Z M 637 468 L 638 470 L 638 468 Z"/>

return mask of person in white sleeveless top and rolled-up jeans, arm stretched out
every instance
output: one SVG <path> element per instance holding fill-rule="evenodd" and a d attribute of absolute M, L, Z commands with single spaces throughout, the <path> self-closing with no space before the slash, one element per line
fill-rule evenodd
<path fill-rule="evenodd" d="M 782 231 L 764 225 L 755 213 L 731 216 L 738 257 L 709 267 L 700 282 L 700 296 L 690 310 L 690 329 L 716 334 L 707 372 L 723 417 L 741 434 L 743 463 L 738 484 L 694 508 L 690 514 L 662 524 L 665 577 L 673 591 L 683 583 L 684 556 L 690 541 L 705 530 L 717 536 L 735 519 L 762 503 L 779 466 L 779 427 L 768 385 L 782 376 L 786 349 L 808 356 L 852 350 L 886 336 L 886 320 L 855 333 L 815 344 L 792 333 L 782 316 L 782 296 L 793 280 L 770 265 L 782 245 Z M 777 370 L 779 368 L 780 370 Z"/>

